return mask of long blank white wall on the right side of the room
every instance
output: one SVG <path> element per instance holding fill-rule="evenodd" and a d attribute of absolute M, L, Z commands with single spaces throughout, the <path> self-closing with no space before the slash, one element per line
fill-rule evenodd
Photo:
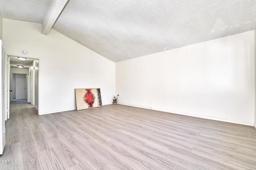
<path fill-rule="evenodd" d="M 253 37 L 248 31 L 116 63 L 118 103 L 253 125 Z"/>

